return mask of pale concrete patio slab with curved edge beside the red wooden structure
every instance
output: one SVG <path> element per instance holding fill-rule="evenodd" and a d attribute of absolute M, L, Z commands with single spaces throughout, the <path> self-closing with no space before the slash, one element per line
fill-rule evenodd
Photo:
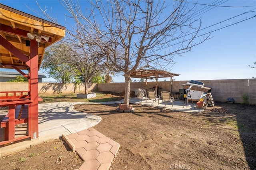
<path fill-rule="evenodd" d="M 0 155 L 8 155 L 45 141 L 54 140 L 62 136 L 62 134 L 68 135 L 79 132 L 93 127 L 101 121 L 101 117 L 99 116 L 88 115 L 74 110 L 73 105 L 76 104 L 82 103 L 61 102 L 39 104 L 39 138 L 4 146 L 0 149 Z"/>

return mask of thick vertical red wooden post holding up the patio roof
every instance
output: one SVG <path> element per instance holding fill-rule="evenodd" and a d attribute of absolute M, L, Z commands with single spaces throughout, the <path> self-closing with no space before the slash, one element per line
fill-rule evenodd
<path fill-rule="evenodd" d="M 28 105 L 28 134 L 31 139 L 38 138 L 38 43 L 30 40 L 30 70 L 28 89 L 30 99 L 33 101 Z"/>

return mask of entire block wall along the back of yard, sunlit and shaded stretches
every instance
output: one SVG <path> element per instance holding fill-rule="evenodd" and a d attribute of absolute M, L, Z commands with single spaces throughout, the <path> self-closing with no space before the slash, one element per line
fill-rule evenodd
<path fill-rule="evenodd" d="M 230 79 L 230 80 L 198 80 L 202 81 L 205 87 L 212 88 L 212 97 L 214 101 L 225 102 L 226 99 L 233 98 L 236 103 L 242 103 L 242 95 L 249 96 L 249 103 L 256 105 L 256 79 Z M 172 92 L 179 92 L 183 89 L 183 84 L 189 81 L 160 81 L 158 87 L 162 90 Z M 154 87 L 155 82 L 148 82 L 148 89 Z M 146 89 L 146 82 L 132 82 L 131 91 L 134 89 Z M 38 83 L 38 93 L 40 94 L 53 94 L 53 93 L 83 93 L 84 85 L 78 85 L 76 89 L 74 84 L 61 84 L 61 83 Z M 80 90 L 79 90 L 80 89 Z M 112 91 L 121 93 L 125 90 L 125 83 L 103 83 L 94 84 L 90 87 L 90 91 Z M 0 82 L 0 91 L 28 91 L 28 83 L 7 83 Z"/>

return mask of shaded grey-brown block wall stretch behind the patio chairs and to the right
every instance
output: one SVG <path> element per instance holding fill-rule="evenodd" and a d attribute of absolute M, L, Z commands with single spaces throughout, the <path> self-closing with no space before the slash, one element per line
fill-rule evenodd
<path fill-rule="evenodd" d="M 214 101 L 226 102 L 226 99 L 233 98 L 236 103 L 242 103 L 242 95 L 248 94 L 249 103 L 256 105 L 256 79 L 230 79 L 230 80 L 198 80 L 204 83 L 205 87 L 212 88 L 212 97 Z M 179 92 L 179 89 L 183 89 L 183 84 L 188 81 L 160 81 L 158 87 L 163 90 L 172 92 Z M 155 86 L 155 82 L 148 82 L 148 89 Z M 146 89 L 146 82 L 132 82 L 131 91 L 136 88 Z M 98 84 L 99 91 L 112 91 L 115 93 L 123 92 L 125 89 L 125 83 L 104 83 Z"/>

